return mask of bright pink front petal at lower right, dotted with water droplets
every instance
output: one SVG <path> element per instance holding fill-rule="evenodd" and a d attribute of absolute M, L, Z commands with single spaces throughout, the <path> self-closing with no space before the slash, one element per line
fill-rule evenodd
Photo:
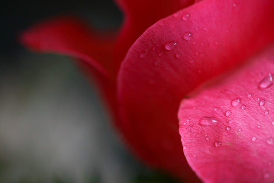
<path fill-rule="evenodd" d="M 272 183 L 274 45 L 224 78 L 181 102 L 187 161 L 206 183 Z"/>

